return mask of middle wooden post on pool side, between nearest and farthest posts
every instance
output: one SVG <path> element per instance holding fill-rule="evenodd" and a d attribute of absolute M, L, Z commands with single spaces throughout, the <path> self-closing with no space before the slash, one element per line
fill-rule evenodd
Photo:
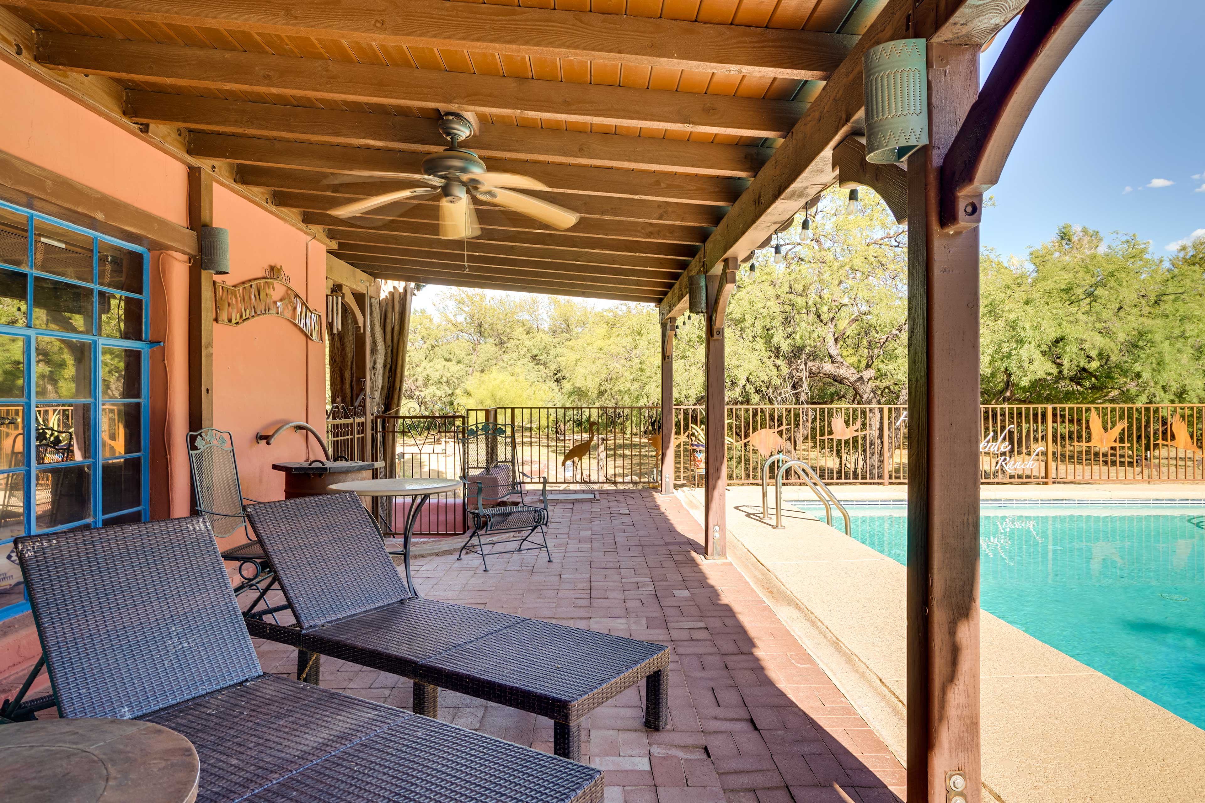
<path fill-rule="evenodd" d="M 728 495 L 728 408 L 724 400 L 724 327 L 723 311 L 719 309 L 721 323 L 712 326 L 717 307 L 728 302 L 731 287 L 727 283 L 728 273 L 735 276 L 736 258 L 724 260 L 724 270 L 707 277 L 707 315 L 706 341 L 704 346 L 706 359 L 706 398 L 707 417 L 707 473 L 704 484 L 705 515 L 704 554 L 707 557 L 728 556 L 728 530 L 724 522 L 724 510 Z"/>

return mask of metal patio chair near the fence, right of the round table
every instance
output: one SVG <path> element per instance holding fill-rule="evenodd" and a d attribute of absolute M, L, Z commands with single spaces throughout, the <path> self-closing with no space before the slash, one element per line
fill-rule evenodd
<path fill-rule="evenodd" d="M 543 550 L 551 563 L 552 550 L 548 549 L 547 532 L 548 478 L 531 477 L 516 466 L 515 425 L 482 421 L 459 429 L 457 441 L 464 459 L 460 482 L 465 486 L 464 504 L 471 529 L 455 559 L 460 560 L 465 553 L 481 555 L 482 569 L 488 572 L 488 555 Z M 540 482 L 539 504 L 527 501 L 524 479 Z M 531 538 L 537 530 L 540 542 Z M 506 532 L 523 535 L 489 544 L 482 541 L 483 537 Z M 515 547 L 505 548 L 506 544 Z"/>

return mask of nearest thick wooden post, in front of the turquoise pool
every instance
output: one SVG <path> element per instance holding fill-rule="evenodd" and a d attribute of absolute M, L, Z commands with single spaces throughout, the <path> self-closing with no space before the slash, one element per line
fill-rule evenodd
<path fill-rule="evenodd" d="M 978 229 L 944 232 L 942 159 L 978 91 L 977 46 L 929 43 L 929 138 L 909 159 L 909 803 L 968 803 L 980 773 Z"/>

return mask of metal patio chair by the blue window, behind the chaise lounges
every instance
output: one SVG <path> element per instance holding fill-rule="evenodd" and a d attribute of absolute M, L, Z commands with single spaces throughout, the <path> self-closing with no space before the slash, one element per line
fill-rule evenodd
<path fill-rule="evenodd" d="M 192 467 L 193 494 L 196 500 L 194 509 L 205 516 L 213 535 L 229 538 L 242 530 L 249 538 L 247 543 L 223 549 L 222 559 L 239 563 L 242 583 L 235 586 L 234 594 L 236 597 L 254 594 L 255 598 L 247 608 L 252 610 L 264 601 L 276 579 L 263 547 L 247 526 L 246 504 L 254 503 L 255 500 L 242 495 L 234 438 L 229 432 L 213 427 L 189 432 L 188 465 Z"/>

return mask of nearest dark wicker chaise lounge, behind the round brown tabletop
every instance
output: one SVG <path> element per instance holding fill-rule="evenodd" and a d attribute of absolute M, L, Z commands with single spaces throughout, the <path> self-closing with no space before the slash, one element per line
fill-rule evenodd
<path fill-rule="evenodd" d="M 17 553 L 59 714 L 183 734 L 199 803 L 602 799 L 598 769 L 264 674 L 204 519 L 31 536 Z"/>

